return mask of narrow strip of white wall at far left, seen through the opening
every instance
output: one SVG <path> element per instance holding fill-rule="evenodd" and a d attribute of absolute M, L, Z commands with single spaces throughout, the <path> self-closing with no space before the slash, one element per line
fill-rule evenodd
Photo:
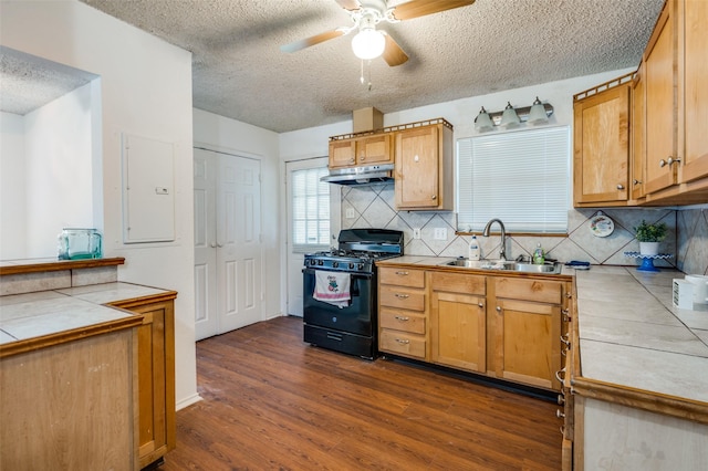
<path fill-rule="evenodd" d="M 24 116 L 0 113 L 0 260 L 25 258 Z"/>

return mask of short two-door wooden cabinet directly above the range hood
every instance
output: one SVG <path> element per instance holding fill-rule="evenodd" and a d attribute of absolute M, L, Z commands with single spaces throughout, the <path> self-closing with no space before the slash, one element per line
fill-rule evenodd
<path fill-rule="evenodd" d="M 393 164 L 392 133 L 330 142 L 330 168 Z"/>

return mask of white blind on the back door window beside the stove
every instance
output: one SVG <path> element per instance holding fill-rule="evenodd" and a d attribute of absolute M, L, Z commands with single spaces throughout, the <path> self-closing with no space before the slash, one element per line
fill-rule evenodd
<path fill-rule="evenodd" d="M 320 181 L 326 167 L 293 170 L 292 240 L 298 252 L 330 248 L 330 184 Z"/>

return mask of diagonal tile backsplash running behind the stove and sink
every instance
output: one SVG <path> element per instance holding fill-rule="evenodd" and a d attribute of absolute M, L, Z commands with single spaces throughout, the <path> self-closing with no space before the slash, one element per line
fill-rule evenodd
<path fill-rule="evenodd" d="M 394 185 L 342 187 L 342 228 L 385 228 L 405 233 L 407 255 L 467 257 L 471 236 L 456 234 L 457 214 L 437 211 L 396 211 Z M 350 214 L 354 218 L 346 218 Z M 592 264 L 638 265 L 641 260 L 626 257 L 624 252 L 637 252 L 639 243 L 633 228 L 643 219 L 664 221 L 669 233 L 662 242 L 660 253 L 673 255 L 667 260 L 655 260 L 658 268 L 673 266 L 685 273 L 708 274 L 708 206 L 698 209 L 674 208 L 605 208 L 602 212 L 612 218 L 615 229 L 612 234 L 600 238 L 590 230 L 590 221 L 597 209 L 571 209 L 569 233 L 563 237 L 509 236 L 507 258 L 531 255 L 541 243 L 548 257 L 560 261 L 583 260 Z M 414 229 L 420 229 L 420 239 L 414 239 Z M 447 231 L 446 240 L 435 239 L 436 229 Z M 492 232 L 498 227 L 492 227 Z M 485 258 L 497 258 L 500 238 L 477 234 Z"/>

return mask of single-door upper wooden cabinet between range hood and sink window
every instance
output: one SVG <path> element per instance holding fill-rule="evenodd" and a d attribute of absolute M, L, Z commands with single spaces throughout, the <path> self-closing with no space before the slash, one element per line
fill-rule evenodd
<path fill-rule="evenodd" d="M 395 155 L 397 209 L 452 209 L 452 126 L 441 119 L 398 130 Z"/>

